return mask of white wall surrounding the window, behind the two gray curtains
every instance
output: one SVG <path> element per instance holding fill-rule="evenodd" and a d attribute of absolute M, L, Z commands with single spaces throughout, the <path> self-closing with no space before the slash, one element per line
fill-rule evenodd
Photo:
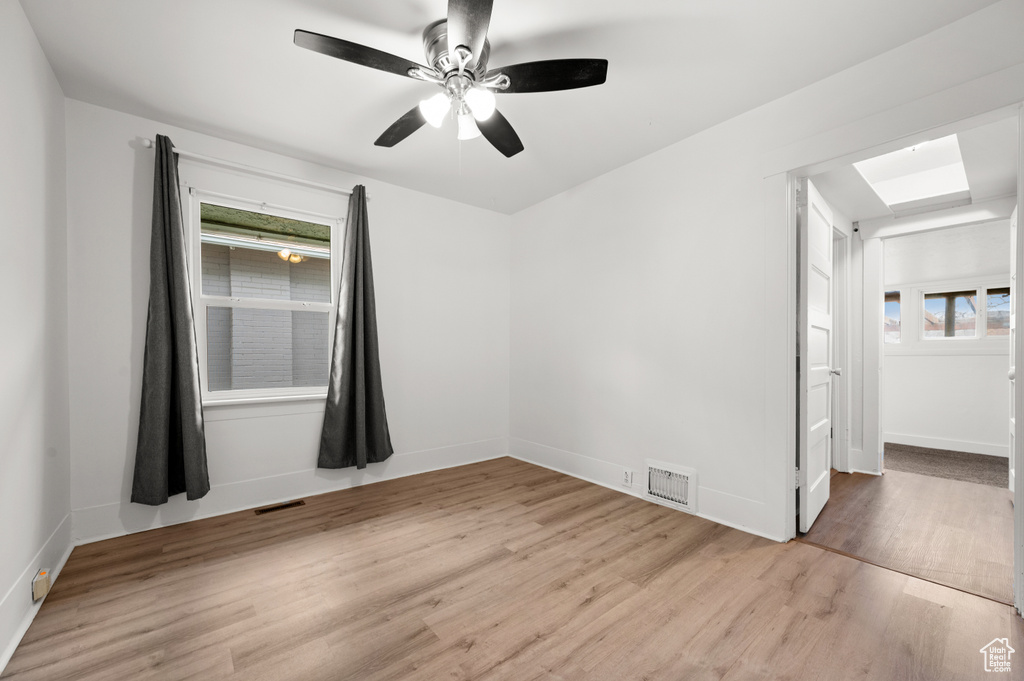
<path fill-rule="evenodd" d="M 154 164 L 139 139 L 157 133 L 199 154 L 342 187 L 367 185 L 395 446 L 389 461 L 364 471 L 316 470 L 323 400 L 209 408 L 210 494 L 190 503 L 181 495 L 159 508 L 128 502 Z M 188 180 L 201 171 L 182 162 L 181 174 Z M 268 188 L 278 190 L 301 189 Z M 275 196 L 259 199 L 289 201 Z M 75 100 L 68 100 L 68 206 L 71 499 L 79 540 L 507 453 L 508 216 Z"/>

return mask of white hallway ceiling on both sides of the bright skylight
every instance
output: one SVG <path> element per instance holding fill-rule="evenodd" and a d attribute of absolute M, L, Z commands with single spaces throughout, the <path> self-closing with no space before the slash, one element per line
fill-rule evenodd
<path fill-rule="evenodd" d="M 957 131 L 971 202 L 1012 196 L 1017 191 L 1017 118 Z M 811 178 L 829 204 L 853 221 L 893 215 L 852 166 Z"/>

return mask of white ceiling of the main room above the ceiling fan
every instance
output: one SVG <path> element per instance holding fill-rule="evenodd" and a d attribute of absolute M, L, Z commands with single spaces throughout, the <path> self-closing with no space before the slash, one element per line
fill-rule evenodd
<path fill-rule="evenodd" d="M 377 136 L 433 86 L 300 49 L 422 62 L 445 0 L 22 0 L 67 96 L 513 213 L 994 0 L 496 0 L 490 66 L 603 57 L 597 88 L 500 96 L 525 151 Z M 967 159 L 965 158 L 965 161 Z"/>

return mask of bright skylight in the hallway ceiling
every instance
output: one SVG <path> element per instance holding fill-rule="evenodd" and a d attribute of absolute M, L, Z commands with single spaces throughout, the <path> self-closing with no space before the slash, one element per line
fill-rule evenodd
<path fill-rule="evenodd" d="M 853 164 L 890 208 L 969 191 L 956 135 Z"/>

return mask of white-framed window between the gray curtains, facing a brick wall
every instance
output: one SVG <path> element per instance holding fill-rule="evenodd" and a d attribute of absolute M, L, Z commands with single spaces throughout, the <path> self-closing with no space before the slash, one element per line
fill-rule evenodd
<path fill-rule="evenodd" d="M 325 394 L 337 295 L 332 262 L 339 240 L 332 232 L 341 221 L 193 196 L 204 398 Z"/>

